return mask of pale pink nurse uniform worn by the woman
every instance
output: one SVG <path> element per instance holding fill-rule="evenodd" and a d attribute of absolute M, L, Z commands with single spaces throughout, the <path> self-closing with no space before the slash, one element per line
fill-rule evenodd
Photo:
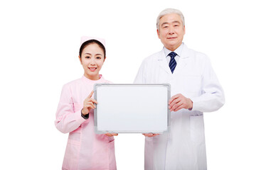
<path fill-rule="evenodd" d="M 110 81 L 105 80 L 101 75 L 96 81 L 83 76 L 63 86 L 55 120 L 55 126 L 60 132 L 69 132 L 63 169 L 117 169 L 114 137 L 95 134 L 92 109 L 87 120 L 81 117 L 83 101 L 90 94 L 95 83 L 110 83 Z"/>

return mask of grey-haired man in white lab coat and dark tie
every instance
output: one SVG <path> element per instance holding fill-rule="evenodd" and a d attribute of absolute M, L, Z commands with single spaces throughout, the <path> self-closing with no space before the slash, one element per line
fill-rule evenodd
<path fill-rule="evenodd" d="M 223 89 L 209 58 L 183 44 L 185 23 L 181 11 L 161 11 L 156 27 L 164 48 L 142 62 L 134 83 L 171 84 L 171 116 L 169 132 L 144 134 L 144 167 L 207 169 L 203 112 L 223 106 Z"/>

